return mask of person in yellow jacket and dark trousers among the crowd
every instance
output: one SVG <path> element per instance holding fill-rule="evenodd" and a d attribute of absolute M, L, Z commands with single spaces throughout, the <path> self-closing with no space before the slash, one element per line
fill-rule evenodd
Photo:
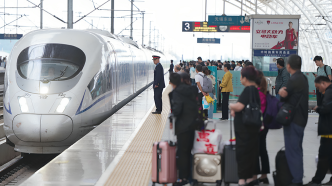
<path fill-rule="evenodd" d="M 224 65 L 224 71 L 226 72 L 224 77 L 222 78 L 220 87 L 222 93 L 222 102 L 221 102 L 221 112 L 222 118 L 220 120 L 228 120 L 228 102 L 229 102 L 229 94 L 233 92 L 233 84 L 232 79 L 233 75 L 229 71 L 231 69 L 230 64 Z"/>

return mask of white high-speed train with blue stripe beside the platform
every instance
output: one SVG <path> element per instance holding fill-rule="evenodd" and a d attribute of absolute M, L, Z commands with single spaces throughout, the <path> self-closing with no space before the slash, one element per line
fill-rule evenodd
<path fill-rule="evenodd" d="M 153 81 L 152 55 L 102 30 L 38 30 L 8 59 L 4 87 L 7 143 L 22 153 L 61 153 Z"/>

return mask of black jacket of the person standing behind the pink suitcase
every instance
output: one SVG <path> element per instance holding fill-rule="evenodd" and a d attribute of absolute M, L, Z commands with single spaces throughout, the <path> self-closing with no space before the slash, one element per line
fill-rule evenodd
<path fill-rule="evenodd" d="M 196 101 L 197 87 L 181 83 L 171 93 L 169 98 L 175 120 L 175 134 L 195 130 L 198 106 Z"/>

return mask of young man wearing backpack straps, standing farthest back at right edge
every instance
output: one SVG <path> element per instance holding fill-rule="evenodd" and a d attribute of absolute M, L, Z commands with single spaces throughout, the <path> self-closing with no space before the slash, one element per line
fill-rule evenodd
<path fill-rule="evenodd" d="M 318 66 L 317 68 L 317 74 L 314 73 L 315 77 L 318 76 L 325 76 L 328 77 L 330 80 L 332 80 L 331 76 L 331 67 L 328 65 L 324 65 L 323 63 L 323 58 L 321 56 L 316 56 L 314 58 L 314 61 L 316 65 Z M 316 96 L 317 96 L 317 105 L 320 106 L 322 105 L 322 93 L 319 92 L 319 90 L 316 88 Z"/>

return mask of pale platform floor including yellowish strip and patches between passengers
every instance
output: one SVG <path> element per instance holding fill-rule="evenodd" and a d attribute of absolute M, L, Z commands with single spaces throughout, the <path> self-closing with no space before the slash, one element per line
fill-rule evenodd
<path fill-rule="evenodd" d="M 167 82 L 166 77 L 165 80 Z M 164 89 L 161 115 L 151 114 L 155 107 L 153 90 L 148 88 L 21 185 L 151 186 L 152 144 L 168 140 L 168 93 L 171 90 L 170 86 Z M 220 121 L 220 117 L 221 113 L 215 113 L 213 122 L 222 131 L 223 140 L 229 140 L 230 121 Z M 303 183 L 308 183 L 316 171 L 315 157 L 320 139 L 317 136 L 317 121 L 318 114 L 310 113 L 303 140 Z M 214 125 L 209 124 L 208 128 L 214 128 Z M 174 136 L 171 138 L 175 139 Z M 274 185 L 272 172 L 275 170 L 275 156 L 283 146 L 283 130 L 270 130 L 267 135 L 270 185 Z M 329 178 L 329 175 L 326 176 L 323 182 Z"/>

